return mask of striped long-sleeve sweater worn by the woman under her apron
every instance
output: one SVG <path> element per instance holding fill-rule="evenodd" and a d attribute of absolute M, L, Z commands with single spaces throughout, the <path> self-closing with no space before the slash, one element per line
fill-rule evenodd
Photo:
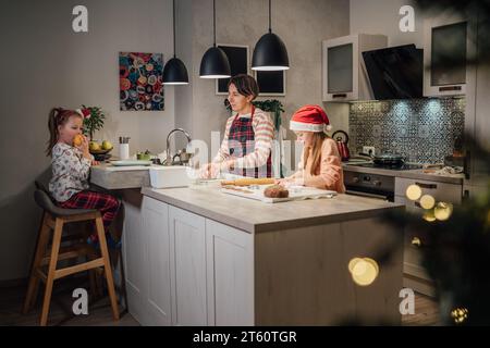
<path fill-rule="evenodd" d="M 236 114 L 230 116 L 226 121 L 226 126 L 224 130 L 224 137 L 221 141 L 221 147 L 218 151 L 218 154 L 215 157 L 212 162 L 220 163 L 226 160 L 230 160 L 232 156 L 230 154 L 229 148 L 229 136 L 230 128 L 232 126 L 233 120 Z M 240 117 L 249 119 L 252 114 L 243 114 Z M 254 128 L 254 137 L 255 137 L 255 149 L 254 152 L 247 153 L 244 157 L 234 158 L 234 166 L 235 167 L 260 167 L 267 164 L 267 159 L 271 153 L 272 149 L 272 140 L 274 138 L 274 125 L 269 114 L 265 111 L 256 108 L 254 112 L 254 119 L 252 120 L 252 126 Z"/>

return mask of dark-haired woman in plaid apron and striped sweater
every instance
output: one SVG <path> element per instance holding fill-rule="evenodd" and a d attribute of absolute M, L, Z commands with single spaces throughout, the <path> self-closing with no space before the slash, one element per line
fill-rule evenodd
<path fill-rule="evenodd" d="M 203 167 L 203 177 L 217 177 L 220 172 L 250 177 L 272 176 L 274 126 L 270 116 L 252 103 L 257 95 L 254 77 L 241 74 L 230 79 L 228 100 L 232 116 L 226 121 L 218 154 Z"/>

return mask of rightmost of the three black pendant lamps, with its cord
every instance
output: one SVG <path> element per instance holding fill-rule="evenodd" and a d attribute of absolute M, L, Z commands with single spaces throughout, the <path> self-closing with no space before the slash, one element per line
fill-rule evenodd
<path fill-rule="evenodd" d="M 290 69 L 290 60 L 284 42 L 271 29 L 271 9 L 269 0 L 269 33 L 262 35 L 254 49 L 252 70 L 280 71 Z"/>

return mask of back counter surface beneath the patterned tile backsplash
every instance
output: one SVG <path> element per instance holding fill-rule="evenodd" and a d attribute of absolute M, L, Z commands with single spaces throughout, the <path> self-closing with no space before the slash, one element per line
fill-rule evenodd
<path fill-rule="evenodd" d="M 405 178 L 417 178 L 421 181 L 431 181 L 438 183 L 448 183 L 448 184 L 456 184 L 462 185 L 464 179 L 464 174 L 449 174 L 449 175 L 438 175 L 424 173 L 424 170 L 409 170 L 409 171 L 393 171 L 380 167 L 366 167 L 358 166 L 355 164 L 343 164 L 343 169 L 346 172 L 357 172 L 357 173 L 367 173 L 367 174 L 378 174 L 378 175 L 388 175 L 395 177 L 405 177 Z"/>

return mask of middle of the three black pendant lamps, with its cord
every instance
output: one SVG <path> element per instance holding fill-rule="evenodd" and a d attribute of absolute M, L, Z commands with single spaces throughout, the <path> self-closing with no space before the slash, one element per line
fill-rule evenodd
<path fill-rule="evenodd" d="M 199 77 L 228 78 L 231 77 L 230 62 L 222 49 L 216 46 L 216 0 L 212 0 L 212 29 L 215 41 L 200 61 Z"/>

